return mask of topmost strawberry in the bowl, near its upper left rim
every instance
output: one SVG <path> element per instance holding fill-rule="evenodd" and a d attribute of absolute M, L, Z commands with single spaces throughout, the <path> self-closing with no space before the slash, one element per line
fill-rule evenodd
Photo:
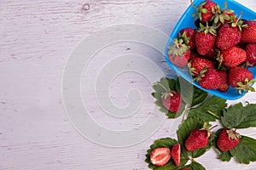
<path fill-rule="evenodd" d="M 192 1 L 191 1 L 192 2 Z M 191 3 L 194 7 L 193 3 Z M 214 3 L 212 0 L 206 0 L 203 3 L 201 3 L 198 8 L 195 8 L 197 12 L 193 14 L 193 16 L 198 16 L 202 23 L 207 23 L 210 20 L 212 20 L 212 17 L 214 14 L 212 13 L 212 10 L 215 8 L 216 3 Z"/>

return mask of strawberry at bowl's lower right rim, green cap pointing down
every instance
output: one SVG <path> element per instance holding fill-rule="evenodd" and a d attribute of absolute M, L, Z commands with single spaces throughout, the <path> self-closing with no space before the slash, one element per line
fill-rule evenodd
<path fill-rule="evenodd" d="M 230 86 L 239 89 L 239 94 L 241 94 L 241 90 L 244 92 L 248 92 L 249 90 L 254 92 L 255 89 L 251 87 L 254 82 L 256 82 L 256 80 L 253 80 L 253 73 L 251 71 L 248 71 L 241 66 L 236 66 L 230 69 Z"/>

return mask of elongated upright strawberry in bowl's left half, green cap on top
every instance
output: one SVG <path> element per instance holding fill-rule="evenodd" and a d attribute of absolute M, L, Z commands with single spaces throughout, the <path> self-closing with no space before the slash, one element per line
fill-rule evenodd
<path fill-rule="evenodd" d="M 216 30 L 212 26 L 203 26 L 195 33 L 195 48 L 201 55 L 208 54 L 214 48 Z"/>

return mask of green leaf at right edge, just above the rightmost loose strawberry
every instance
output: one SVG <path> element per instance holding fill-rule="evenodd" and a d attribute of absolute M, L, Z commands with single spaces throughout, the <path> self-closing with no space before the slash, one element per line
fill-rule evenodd
<path fill-rule="evenodd" d="M 230 106 L 221 117 L 224 127 L 256 127 L 256 104 Z"/>

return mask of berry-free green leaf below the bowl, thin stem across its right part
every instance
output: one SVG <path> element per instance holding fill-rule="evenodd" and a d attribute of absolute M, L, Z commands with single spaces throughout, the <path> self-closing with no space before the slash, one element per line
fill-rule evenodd
<path fill-rule="evenodd" d="M 202 105 L 192 108 L 188 117 L 200 117 L 204 122 L 215 122 L 222 116 L 224 108 L 227 106 L 226 100 L 212 96 L 203 102 Z"/>

